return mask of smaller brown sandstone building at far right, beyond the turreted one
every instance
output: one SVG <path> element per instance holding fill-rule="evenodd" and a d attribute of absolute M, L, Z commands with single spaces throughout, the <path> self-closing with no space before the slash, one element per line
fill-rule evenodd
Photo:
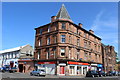
<path fill-rule="evenodd" d="M 116 69 L 116 56 L 117 53 L 113 46 L 102 44 L 102 63 L 105 72 Z"/>

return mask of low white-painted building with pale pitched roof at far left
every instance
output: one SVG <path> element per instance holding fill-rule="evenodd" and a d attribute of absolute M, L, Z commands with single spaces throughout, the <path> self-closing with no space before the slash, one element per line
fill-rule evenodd
<path fill-rule="evenodd" d="M 21 57 L 33 55 L 33 48 L 30 45 L 2 50 L 0 51 L 0 67 L 4 65 L 18 67 L 18 60 L 21 59 Z"/>

